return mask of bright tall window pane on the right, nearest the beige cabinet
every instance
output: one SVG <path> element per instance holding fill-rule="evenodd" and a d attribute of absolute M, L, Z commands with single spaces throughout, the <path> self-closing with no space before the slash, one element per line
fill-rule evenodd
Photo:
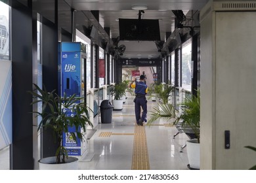
<path fill-rule="evenodd" d="M 192 44 L 191 39 L 182 44 L 182 68 L 181 68 L 181 79 L 182 79 L 182 88 L 185 90 L 191 91 L 191 50 Z"/>

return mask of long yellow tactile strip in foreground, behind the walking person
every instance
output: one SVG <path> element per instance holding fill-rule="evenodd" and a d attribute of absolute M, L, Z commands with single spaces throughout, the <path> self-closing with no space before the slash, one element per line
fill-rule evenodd
<path fill-rule="evenodd" d="M 149 170 L 148 146 L 146 144 L 146 131 L 144 126 L 135 125 L 133 141 L 132 170 Z"/>

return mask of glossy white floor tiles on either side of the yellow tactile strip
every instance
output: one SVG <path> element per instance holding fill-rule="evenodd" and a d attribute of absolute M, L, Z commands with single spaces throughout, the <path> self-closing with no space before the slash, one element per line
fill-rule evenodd
<path fill-rule="evenodd" d="M 150 111 L 155 107 L 155 102 L 148 100 L 148 118 Z M 160 120 L 154 124 L 167 124 Z M 123 110 L 113 111 L 111 124 L 98 124 L 97 131 L 88 141 L 86 156 L 79 158 L 79 169 L 91 170 L 131 170 L 133 159 L 133 140 L 135 131 L 135 112 L 133 97 L 129 97 L 123 105 Z M 188 137 L 182 133 L 173 139 L 177 132 L 175 127 L 164 125 L 144 125 L 148 158 L 152 170 L 186 170 L 188 158 L 186 148 L 179 152 Z M 122 133 L 110 137 L 99 137 L 101 132 Z M 87 156 L 92 156 L 91 161 L 82 161 Z M 9 149 L 0 151 L 0 169 L 9 169 Z"/>

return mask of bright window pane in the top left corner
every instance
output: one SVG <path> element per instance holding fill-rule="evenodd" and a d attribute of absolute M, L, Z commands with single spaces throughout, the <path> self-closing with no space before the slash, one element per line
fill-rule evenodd
<path fill-rule="evenodd" d="M 0 60 L 10 58 L 9 6 L 0 1 Z"/>

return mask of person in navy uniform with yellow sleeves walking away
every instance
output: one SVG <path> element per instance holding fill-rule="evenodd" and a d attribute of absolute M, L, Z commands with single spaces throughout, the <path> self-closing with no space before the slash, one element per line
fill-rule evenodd
<path fill-rule="evenodd" d="M 137 125 L 143 125 L 143 122 L 146 122 L 146 114 L 147 110 L 147 101 L 146 101 L 146 93 L 148 93 L 148 86 L 145 84 L 145 76 L 140 75 L 140 81 L 133 81 L 131 84 L 131 88 L 135 88 L 135 116 Z M 142 116 L 140 117 L 140 107 L 142 107 Z"/>

